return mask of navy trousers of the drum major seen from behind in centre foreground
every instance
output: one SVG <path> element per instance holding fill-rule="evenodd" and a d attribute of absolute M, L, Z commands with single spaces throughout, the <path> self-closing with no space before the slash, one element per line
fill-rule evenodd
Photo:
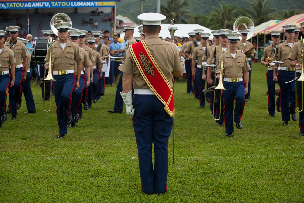
<path fill-rule="evenodd" d="M 133 127 L 138 149 L 141 190 L 146 193 L 167 191 L 168 140 L 173 118 L 155 95 L 134 95 Z M 154 170 L 152 163 L 154 144 Z"/>

